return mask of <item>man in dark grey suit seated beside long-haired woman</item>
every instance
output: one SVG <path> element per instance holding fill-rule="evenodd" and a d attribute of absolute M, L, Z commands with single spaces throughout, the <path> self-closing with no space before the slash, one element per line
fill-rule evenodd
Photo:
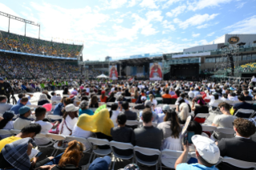
<path fill-rule="evenodd" d="M 163 132 L 161 129 L 152 126 L 152 111 L 146 109 L 142 114 L 143 127 L 134 129 L 135 145 L 143 148 L 155 148 L 161 150 Z M 154 161 L 158 156 L 144 156 L 136 152 L 140 160 Z"/>

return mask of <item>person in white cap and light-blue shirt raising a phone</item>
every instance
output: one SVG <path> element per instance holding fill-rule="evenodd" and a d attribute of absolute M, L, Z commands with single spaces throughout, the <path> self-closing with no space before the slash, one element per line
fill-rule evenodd
<path fill-rule="evenodd" d="M 187 164 L 187 156 L 189 153 L 189 145 L 184 144 L 184 151 L 176 160 L 174 168 L 176 170 L 193 169 L 193 170 L 217 170 L 214 166 L 220 158 L 220 150 L 213 140 L 201 135 L 195 135 L 191 138 L 196 148 L 197 164 Z"/>

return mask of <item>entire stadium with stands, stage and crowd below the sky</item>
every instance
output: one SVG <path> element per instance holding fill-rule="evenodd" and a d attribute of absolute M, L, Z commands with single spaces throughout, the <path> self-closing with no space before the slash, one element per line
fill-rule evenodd
<path fill-rule="evenodd" d="M 256 169 L 256 34 L 85 60 L 0 15 L 0 169 Z"/>

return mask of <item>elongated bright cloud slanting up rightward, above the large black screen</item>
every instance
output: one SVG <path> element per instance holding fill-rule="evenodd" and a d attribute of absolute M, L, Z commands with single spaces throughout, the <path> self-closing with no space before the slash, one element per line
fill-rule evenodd
<path fill-rule="evenodd" d="M 195 14 L 193 17 L 185 20 L 184 22 L 181 22 L 179 19 L 175 18 L 173 19 L 173 22 L 178 23 L 180 28 L 186 29 L 189 26 L 197 26 L 201 25 L 203 22 L 207 22 L 209 20 L 212 20 L 215 18 L 218 14 Z"/>

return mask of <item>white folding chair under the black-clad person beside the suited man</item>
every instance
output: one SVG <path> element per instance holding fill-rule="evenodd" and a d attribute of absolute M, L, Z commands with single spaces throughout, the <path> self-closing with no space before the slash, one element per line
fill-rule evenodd
<path fill-rule="evenodd" d="M 114 170 L 115 168 L 115 163 L 116 163 L 116 158 L 119 158 L 119 159 L 122 159 L 122 160 L 129 160 L 133 157 L 133 153 L 132 155 L 130 156 L 120 156 L 119 154 L 117 154 L 114 150 L 113 147 L 115 148 L 118 148 L 120 150 L 127 150 L 127 149 L 132 149 L 133 150 L 133 145 L 130 144 L 130 143 L 122 143 L 122 142 L 116 142 L 114 140 L 112 140 L 110 143 L 109 143 L 110 147 L 112 148 L 112 152 L 115 156 L 115 160 L 114 160 L 114 164 L 113 164 L 113 167 L 112 167 L 112 170 Z M 132 163 L 134 162 L 134 159 L 132 159 Z"/>

